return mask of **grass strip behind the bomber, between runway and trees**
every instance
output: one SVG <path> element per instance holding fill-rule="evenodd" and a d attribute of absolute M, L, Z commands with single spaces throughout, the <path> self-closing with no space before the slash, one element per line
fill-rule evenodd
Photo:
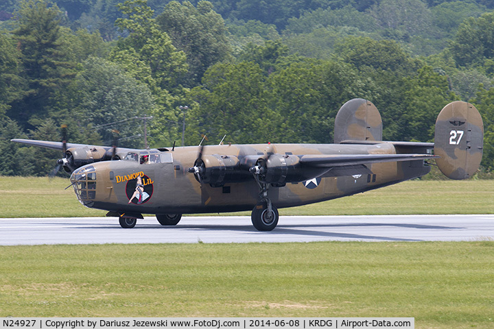
<path fill-rule="evenodd" d="M 1 217 L 104 216 L 80 204 L 62 178 L 0 176 Z M 494 180 L 413 180 L 350 197 L 280 210 L 280 215 L 492 214 Z M 238 212 L 235 215 L 250 215 Z"/>

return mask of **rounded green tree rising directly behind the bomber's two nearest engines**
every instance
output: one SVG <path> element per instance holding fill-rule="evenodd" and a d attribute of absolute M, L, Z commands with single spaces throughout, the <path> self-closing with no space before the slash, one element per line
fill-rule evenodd
<path fill-rule="evenodd" d="M 271 111 L 266 103 L 266 76 L 252 62 L 215 64 L 204 75 L 203 86 L 193 90 L 198 103 L 191 109 L 187 141 L 198 144 L 200 133 L 210 141 L 254 143 L 266 141 Z"/>

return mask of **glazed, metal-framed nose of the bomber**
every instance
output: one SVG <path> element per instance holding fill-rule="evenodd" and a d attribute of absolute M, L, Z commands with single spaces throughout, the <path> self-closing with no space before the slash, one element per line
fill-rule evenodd
<path fill-rule="evenodd" d="M 86 207 L 92 207 L 96 198 L 95 167 L 86 165 L 75 169 L 70 180 L 79 202 Z"/>

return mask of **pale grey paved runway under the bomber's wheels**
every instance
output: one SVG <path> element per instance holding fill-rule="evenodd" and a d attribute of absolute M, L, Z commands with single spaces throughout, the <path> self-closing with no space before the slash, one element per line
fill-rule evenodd
<path fill-rule="evenodd" d="M 116 217 L 0 219 L 0 245 L 101 243 L 283 243 L 311 241 L 494 241 L 494 215 L 281 216 L 259 232 L 250 217 L 155 217 L 132 229 Z"/>

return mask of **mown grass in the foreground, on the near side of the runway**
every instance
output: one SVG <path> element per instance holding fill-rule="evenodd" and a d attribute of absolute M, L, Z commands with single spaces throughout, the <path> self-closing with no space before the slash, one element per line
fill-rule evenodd
<path fill-rule="evenodd" d="M 494 242 L 0 247 L 0 317 L 415 317 L 494 328 Z"/>

